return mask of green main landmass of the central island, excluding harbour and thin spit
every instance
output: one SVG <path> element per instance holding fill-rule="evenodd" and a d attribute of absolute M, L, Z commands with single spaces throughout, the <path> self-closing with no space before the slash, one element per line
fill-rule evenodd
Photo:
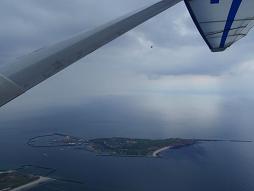
<path fill-rule="evenodd" d="M 168 148 L 180 148 L 197 143 L 195 139 L 130 139 L 100 138 L 89 140 L 87 149 L 101 155 L 113 156 L 158 156 Z"/>

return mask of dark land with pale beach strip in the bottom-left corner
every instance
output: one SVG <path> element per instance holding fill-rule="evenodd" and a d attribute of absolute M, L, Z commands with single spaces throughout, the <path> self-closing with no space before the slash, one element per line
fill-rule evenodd
<path fill-rule="evenodd" d="M 28 190 L 50 180 L 50 178 L 23 174 L 18 171 L 0 172 L 0 191 Z"/>

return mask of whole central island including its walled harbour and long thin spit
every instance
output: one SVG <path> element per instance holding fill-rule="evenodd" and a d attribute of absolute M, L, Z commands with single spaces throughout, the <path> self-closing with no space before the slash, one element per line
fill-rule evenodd
<path fill-rule="evenodd" d="M 138 138 L 96 138 L 84 139 L 67 134 L 53 133 L 37 136 L 28 140 L 31 147 L 66 147 L 86 150 L 98 156 L 119 156 L 119 157 L 161 157 L 161 153 L 168 149 L 180 149 L 202 142 L 252 142 L 241 140 L 222 139 L 138 139 Z"/>

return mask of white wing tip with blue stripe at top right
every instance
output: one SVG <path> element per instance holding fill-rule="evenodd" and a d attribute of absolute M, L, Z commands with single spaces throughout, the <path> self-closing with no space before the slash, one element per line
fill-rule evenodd
<path fill-rule="evenodd" d="M 254 25 L 254 0 L 185 0 L 185 4 L 213 52 L 245 37 Z"/>

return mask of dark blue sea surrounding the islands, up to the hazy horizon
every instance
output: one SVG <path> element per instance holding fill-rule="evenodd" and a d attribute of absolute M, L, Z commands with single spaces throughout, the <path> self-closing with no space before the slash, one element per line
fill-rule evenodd
<path fill-rule="evenodd" d="M 102 157 L 72 148 L 31 148 L 29 138 L 65 133 L 84 138 L 254 140 L 254 100 L 218 96 L 87 98 L 82 105 L 0 116 L 0 171 L 30 169 L 60 180 L 34 188 L 93 191 L 253 191 L 254 143 L 204 142 L 162 158 Z M 3 117 L 5 116 L 5 117 Z M 79 182 L 79 183 L 78 183 Z"/>

